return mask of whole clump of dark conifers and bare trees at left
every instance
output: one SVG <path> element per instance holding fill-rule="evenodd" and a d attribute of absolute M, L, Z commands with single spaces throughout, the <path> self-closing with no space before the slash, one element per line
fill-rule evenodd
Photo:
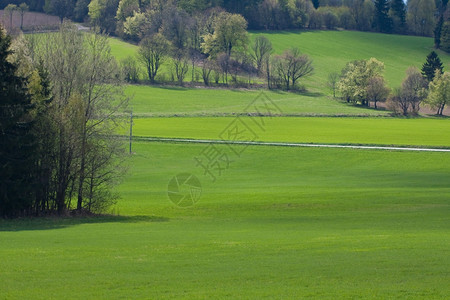
<path fill-rule="evenodd" d="M 63 24 L 11 41 L 1 29 L 0 70 L 0 216 L 106 209 L 127 103 L 106 37 Z"/>

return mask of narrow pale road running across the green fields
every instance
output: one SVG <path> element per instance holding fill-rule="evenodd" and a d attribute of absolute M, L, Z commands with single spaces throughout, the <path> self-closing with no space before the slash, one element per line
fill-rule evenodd
<path fill-rule="evenodd" d="M 349 148 L 368 150 L 397 150 L 397 151 L 422 151 L 422 152 L 450 152 L 450 149 L 439 148 L 413 148 L 413 147 L 390 147 L 390 146 L 358 146 L 358 145 L 330 145 L 330 144 L 304 144 L 285 142 L 246 142 L 246 141 L 223 141 L 223 140 L 201 140 L 201 139 L 176 139 L 158 137 L 138 137 L 134 138 L 148 142 L 177 142 L 177 143 L 197 143 L 197 144 L 235 144 L 235 145 L 256 145 L 256 146 L 279 146 L 279 147 L 315 147 L 315 148 Z"/>

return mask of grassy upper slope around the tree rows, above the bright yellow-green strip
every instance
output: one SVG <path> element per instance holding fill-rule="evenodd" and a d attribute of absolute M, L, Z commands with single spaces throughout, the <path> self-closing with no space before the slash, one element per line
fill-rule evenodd
<path fill-rule="evenodd" d="M 383 114 L 348 107 L 329 98 L 331 92 L 326 87 L 328 74 L 339 72 L 350 60 L 376 57 L 385 63 L 387 81 L 390 86 L 395 87 L 400 85 L 409 66 L 421 67 L 433 45 L 430 38 L 352 31 L 257 32 L 251 33 L 251 37 L 254 38 L 258 34 L 264 34 L 271 39 L 276 53 L 297 46 L 314 60 L 315 73 L 304 82 L 311 93 L 301 95 L 269 93 L 273 99 L 280 101 L 283 111 L 288 114 Z M 111 39 L 111 47 L 113 55 L 118 59 L 136 55 L 137 51 L 137 46 L 117 39 Z M 441 51 L 438 53 L 444 66 L 448 68 L 450 56 Z M 168 72 L 167 63 L 162 72 Z M 187 80 L 189 78 L 190 74 Z M 168 89 L 149 86 L 130 86 L 127 93 L 135 95 L 132 105 L 135 112 L 141 116 L 172 113 L 191 115 L 239 113 L 247 101 L 254 97 L 253 92 L 244 91 Z"/>

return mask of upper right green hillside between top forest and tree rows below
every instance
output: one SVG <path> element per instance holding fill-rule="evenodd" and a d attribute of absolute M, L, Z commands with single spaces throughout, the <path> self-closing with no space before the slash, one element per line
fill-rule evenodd
<path fill-rule="evenodd" d="M 273 31 L 263 34 L 273 43 L 276 53 L 298 47 L 313 59 L 315 74 L 308 88 L 326 90 L 328 74 L 340 72 L 348 61 L 375 57 L 385 64 L 385 77 L 391 87 L 400 86 L 410 66 L 422 68 L 426 56 L 434 50 L 432 38 L 358 31 Z M 444 69 L 450 68 L 450 55 L 436 50 Z"/>

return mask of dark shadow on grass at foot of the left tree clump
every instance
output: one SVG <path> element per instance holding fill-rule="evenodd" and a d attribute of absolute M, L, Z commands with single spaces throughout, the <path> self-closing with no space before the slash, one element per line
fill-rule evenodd
<path fill-rule="evenodd" d="M 81 217 L 43 217 L 19 218 L 11 220 L 0 219 L 0 232 L 2 231 L 30 231 L 63 229 L 82 224 L 102 223 L 154 223 L 168 222 L 167 217 L 159 216 L 81 216 Z"/>

